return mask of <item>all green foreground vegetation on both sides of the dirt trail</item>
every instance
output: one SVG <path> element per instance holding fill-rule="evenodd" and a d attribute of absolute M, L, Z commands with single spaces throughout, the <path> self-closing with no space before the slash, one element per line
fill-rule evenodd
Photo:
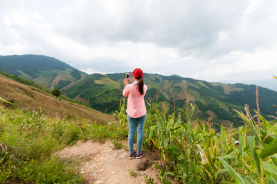
<path fill-rule="evenodd" d="M 246 114 L 236 111 L 244 126 L 236 132 L 221 126 L 217 132 L 211 118 L 205 121 L 194 116 L 197 109 L 188 99 L 183 109 L 172 113 L 166 102 L 157 101 L 147 101 L 143 147 L 159 154 L 155 165 L 161 183 L 277 182 L 276 119 L 266 120 L 259 111 L 251 116 L 246 106 Z M 0 107 L 0 181 L 85 182 L 78 174 L 78 163 L 64 162 L 55 152 L 88 139 L 111 139 L 118 149 L 123 147 L 118 142 L 127 138 L 125 111 L 125 100 L 121 100 L 114 115 L 118 122 L 98 125 L 84 118 L 66 120 L 46 116 L 42 111 Z M 239 145 L 234 145 L 237 134 Z M 134 172 L 129 172 L 134 176 Z M 145 182 L 153 183 L 153 179 L 145 176 Z"/>

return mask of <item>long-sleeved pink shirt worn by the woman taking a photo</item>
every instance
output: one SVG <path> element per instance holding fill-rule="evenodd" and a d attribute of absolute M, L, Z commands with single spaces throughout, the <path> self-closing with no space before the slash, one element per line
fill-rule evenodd
<path fill-rule="evenodd" d="M 132 118 L 139 118 L 146 113 L 146 107 L 144 102 L 144 95 L 148 89 L 148 86 L 143 86 L 143 95 L 139 92 L 139 86 L 134 84 L 127 84 L 123 90 L 123 96 L 128 97 L 127 100 L 127 114 Z"/>

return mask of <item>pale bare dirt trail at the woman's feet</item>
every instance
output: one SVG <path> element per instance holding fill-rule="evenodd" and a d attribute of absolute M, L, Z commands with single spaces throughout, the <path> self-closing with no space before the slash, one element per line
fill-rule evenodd
<path fill-rule="evenodd" d="M 77 142 L 57 153 L 63 160 L 80 160 L 80 174 L 89 183 L 145 183 L 145 176 L 154 178 L 159 183 L 157 170 L 152 165 L 157 156 L 145 154 L 141 159 L 129 160 L 128 151 L 113 149 L 114 144 L 106 142 Z M 131 176 L 131 170 L 135 176 Z"/>

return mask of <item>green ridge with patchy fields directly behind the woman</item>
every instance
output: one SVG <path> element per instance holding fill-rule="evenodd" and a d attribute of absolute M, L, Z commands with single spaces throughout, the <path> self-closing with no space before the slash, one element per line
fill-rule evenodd
<path fill-rule="evenodd" d="M 91 107 L 99 111 L 111 113 L 116 110 L 122 98 L 123 79 L 125 73 L 91 74 L 79 82 L 62 89 L 62 93 L 75 100 L 88 100 Z M 223 122 L 237 127 L 240 120 L 235 118 L 237 109 L 242 111 L 244 104 L 250 109 L 256 109 L 256 86 L 246 84 L 221 84 L 194 80 L 179 76 L 163 76 L 145 73 L 145 84 L 148 93 L 145 98 L 155 102 L 166 102 L 172 112 L 173 109 L 184 109 L 186 99 L 196 105 L 195 115 L 199 118 L 213 116 L 215 122 Z M 273 104 L 277 104 L 277 92 L 260 87 L 260 109 L 262 115 L 275 115 Z"/>

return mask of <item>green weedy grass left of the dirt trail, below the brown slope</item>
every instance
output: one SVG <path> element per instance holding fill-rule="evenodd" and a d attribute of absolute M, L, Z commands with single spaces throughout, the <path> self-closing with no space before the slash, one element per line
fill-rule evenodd
<path fill-rule="evenodd" d="M 127 138 L 116 124 L 66 120 L 42 111 L 0 107 L 0 181 L 3 183 L 85 183 L 78 164 L 55 152 L 78 140 L 105 142 Z"/>

